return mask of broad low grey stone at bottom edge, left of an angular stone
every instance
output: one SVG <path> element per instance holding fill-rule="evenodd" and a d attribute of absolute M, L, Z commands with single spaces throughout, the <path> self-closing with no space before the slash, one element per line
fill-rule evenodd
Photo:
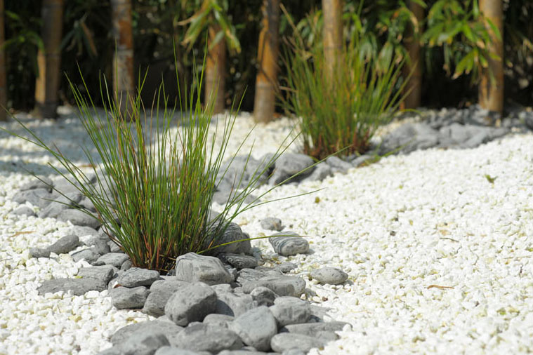
<path fill-rule="evenodd" d="M 212 354 L 225 349 L 242 348 L 239 335 L 232 330 L 204 323 L 190 324 L 169 340 L 173 347 L 192 351 L 209 351 Z"/>

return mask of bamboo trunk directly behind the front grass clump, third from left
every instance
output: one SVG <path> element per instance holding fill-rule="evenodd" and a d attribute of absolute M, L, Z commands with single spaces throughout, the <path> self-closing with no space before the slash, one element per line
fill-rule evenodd
<path fill-rule="evenodd" d="M 133 33 L 131 31 L 131 0 L 111 0 L 115 52 L 113 58 L 114 95 L 119 112 L 131 114 L 128 98 L 134 95 Z"/>

